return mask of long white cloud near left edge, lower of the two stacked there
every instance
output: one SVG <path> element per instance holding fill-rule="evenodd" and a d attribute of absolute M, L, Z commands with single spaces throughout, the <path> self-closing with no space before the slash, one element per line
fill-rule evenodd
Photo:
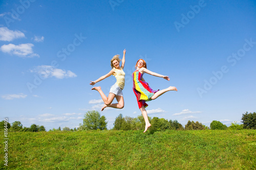
<path fill-rule="evenodd" d="M 31 43 L 27 44 L 8 44 L 8 45 L 2 45 L 0 50 L 4 53 L 9 53 L 11 55 L 16 55 L 18 57 L 23 58 L 32 58 L 32 57 L 39 57 L 38 54 L 35 54 L 32 50 L 32 47 L 34 45 Z"/>

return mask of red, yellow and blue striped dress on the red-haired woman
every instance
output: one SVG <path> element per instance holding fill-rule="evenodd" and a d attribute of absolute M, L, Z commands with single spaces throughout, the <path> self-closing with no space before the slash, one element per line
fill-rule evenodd
<path fill-rule="evenodd" d="M 142 81 L 143 74 L 140 71 L 136 70 L 133 72 L 133 91 L 136 95 L 139 108 L 142 106 L 147 107 L 148 105 L 145 102 L 151 101 L 151 97 L 155 92 L 159 90 L 152 90 L 150 86 L 144 81 Z"/>

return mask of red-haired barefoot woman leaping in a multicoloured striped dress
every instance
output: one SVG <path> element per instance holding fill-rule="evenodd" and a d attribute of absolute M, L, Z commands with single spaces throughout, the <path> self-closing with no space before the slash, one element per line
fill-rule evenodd
<path fill-rule="evenodd" d="M 163 76 L 163 75 L 159 75 L 156 72 L 152 72 L 148 69 L 146 69 L 146 62 L 143 59 L 139 59 L 136 63 L 135 66 L 136 70 L 133 72 L 133 91 L 136 95 L 137 98 L 137 102 L 139 105 L 139 109 L 144 117 L 145 120 L 145 130 L 143 133 L 145 133 L 147 131 L 147 129 L 149 127 L 151 127 L 150 122 L 148 121 L 148 117 L 147 117 L 147 112 L 145 107 L 147 107 L 148 105 L 145 103 L 147 101 L 151 101 L 151 100 L 155 100 L 157 99 L 160 95 L 162 95 L 163 93 L 170 91 L 170 90 L 174 90 L 174 91 L 178 91 L 176 87 L 168 87 L 166 89 L 163 90 L 152 90 L 150 88 L 150 86 L 148 86 L 148 84 L 145 82 L 145 80 L 143 79 L 143 74 L 147 73 L 149 75 L 152 76 L 156 76 L 156 77 L 161 77 L 164 78 L 165 80 L 169 81 L 169 77 L 168 76 Z"/>

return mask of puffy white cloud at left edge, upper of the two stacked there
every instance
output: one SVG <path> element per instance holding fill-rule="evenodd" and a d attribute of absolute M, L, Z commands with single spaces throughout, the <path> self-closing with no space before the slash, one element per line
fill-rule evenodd
<path fill-rule="evenodd" d="M 1 14 L 4 15 L 4 14 Z M 12 31 L 9 30 L 7 27 L 0 28 L 0 40 L 1 41 L 12 41 L 17 38 L 24 38 L 25 34 L 20 31 Z"/>

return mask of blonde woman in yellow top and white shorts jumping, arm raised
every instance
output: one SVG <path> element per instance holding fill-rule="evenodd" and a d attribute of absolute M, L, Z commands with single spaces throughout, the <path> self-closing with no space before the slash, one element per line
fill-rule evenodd
<path fill-rule="evenodd" d="M 124 106 L 122 90 L 124 87 L 124 76 L 125 76 L 125 73 L 123 71 L 123 67 L 124 67 L 124 63 L 125 63 L 125 53 L 126 53 L 126 50 L 124 49 L 121 67 L 119 65 L 119 62 L 121 61 L 119 59 L 119 55 L 115 55 L 111 59 L 112 70 L 108 74 L 101 76 L 99 79 L 97 79 L 95 81 L 90 81 L 91 82 L 90 85 L 95 85 L 99 81 L 101 81 L 107 77 L 110 77 L 111 75 L 116 77 L 116 83 L 113 86 L 111 86 L 108 97 L 102 92 L 100 86 L 92 88 L 92 90 L 97 90 L 100 93 L 100 96 L 104 102 L 104 106 L 101 108 L 101 111 L 103 111 L 104 108 L 106 108 L 106 107 L 122 109 Z M 118 103 L 112 104 L 114 98 L 116 98 Z"/>

